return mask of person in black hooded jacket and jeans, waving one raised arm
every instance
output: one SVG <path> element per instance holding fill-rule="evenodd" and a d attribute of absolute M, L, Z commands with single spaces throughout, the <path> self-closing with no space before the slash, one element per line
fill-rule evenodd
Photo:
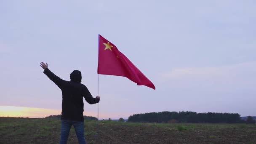
<path fill-rule="evenodd" d="M 83 118 L 83 97 L 89 104 L 96 104 L 100 97 L 93 98 L 85 85 L 81 83 L 82 75 L 78 70 L 70 74 L 70 81 L 62 80 L 48 69 L 48 64 L 41 62 L 43 73 L 50 78 L 62 91 L 61 111 L 61 140 L 60 144 L 66 144 L 69 131 L 73 125 L 79 144 L 85 144 L 84 118 Z"/>

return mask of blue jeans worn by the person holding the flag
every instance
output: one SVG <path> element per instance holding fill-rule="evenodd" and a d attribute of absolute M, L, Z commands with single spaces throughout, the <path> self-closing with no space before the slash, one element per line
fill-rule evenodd
<path fill-rule="evenodd" d="M 74 126 L 75 133 L 77 135 L 77 139 L 79 144 L 85 144 L 85 136 L 84 136 L 84 124 L 80 121 L 75 120 L 61 120 L 61 140 L 59 144 L 67 144 L 67 138 L 69 137 L 69 131 L 71 126 Z"/>

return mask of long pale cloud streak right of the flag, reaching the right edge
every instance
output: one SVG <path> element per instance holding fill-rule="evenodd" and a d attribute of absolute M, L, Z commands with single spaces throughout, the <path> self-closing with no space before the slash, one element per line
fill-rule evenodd
<path fill-rule="evenodd" d="M 256 74 L 256 61 L 222 67 L 181 67 L 161 74 L 162 80 L 202 78 L 248 78 Z"/>

